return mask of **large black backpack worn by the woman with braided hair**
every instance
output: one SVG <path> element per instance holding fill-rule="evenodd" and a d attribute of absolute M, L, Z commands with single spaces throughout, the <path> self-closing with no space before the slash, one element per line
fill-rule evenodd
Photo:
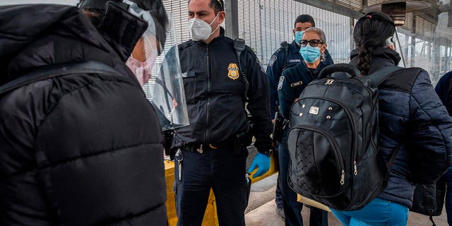
<path fill-rule="evenodd" d="M 357 210 L 386 186 L 389 164 L 379 155 L 377 85 L 397 66 L 360 76 L 350 64 L 326 66 L 290 111 L 289 186 L 336 210 Z"/>

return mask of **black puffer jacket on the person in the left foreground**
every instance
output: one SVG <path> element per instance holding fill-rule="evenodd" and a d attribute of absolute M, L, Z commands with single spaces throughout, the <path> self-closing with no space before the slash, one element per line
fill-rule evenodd
<path fill-rule="evenodd" d="M 73 6 L 0 7 L 0 85 L 66 62 L 122 74 L 72 74 L 0 96 L 0 225 L 167 224 L 160 125 L 124 64 L 140 36 L 124 32 L 137 23 L 129 19 L 99 32 Z"/>

